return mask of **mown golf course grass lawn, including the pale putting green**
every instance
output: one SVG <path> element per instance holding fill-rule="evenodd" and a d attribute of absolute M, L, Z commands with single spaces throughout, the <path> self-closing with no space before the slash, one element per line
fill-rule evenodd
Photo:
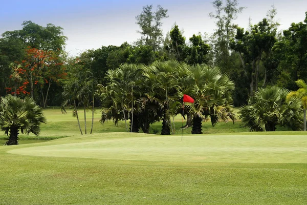
<path fill-rule="evenodd" d="M 71 113 L 46 113 L 40 138 L 70 137 L 1 146 L 0 204 L 307 204 L 304 132 L 206 122 L 210 135 L 187 129 L 181 140 L 180 130 L 161 136 L 125 133 L 123 122 L 101 126 L 97 113 L 94 134 L 80 135 Z"/>

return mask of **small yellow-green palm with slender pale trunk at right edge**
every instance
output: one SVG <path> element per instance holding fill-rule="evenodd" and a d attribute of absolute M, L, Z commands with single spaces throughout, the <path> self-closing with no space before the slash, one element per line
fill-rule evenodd
<path fill-rule="evenodd" d="M 296 85 L 299 87 L 297 91 L 291 91 L 287 99 L 292 97 L 297 97 L 302 100 L 302 105 L 304 109 L 304 131 L 306 131 L 306 109 L 307 109 L 307 84 L 302 79 L 295 81 Z"/>

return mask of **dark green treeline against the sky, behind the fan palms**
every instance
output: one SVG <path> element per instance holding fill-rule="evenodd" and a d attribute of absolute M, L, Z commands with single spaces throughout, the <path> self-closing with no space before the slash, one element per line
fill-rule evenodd
<path fill-rule="evenodd" d="M 110 88 L 112 72 L 128 67 L 129 64 L 142 64 L 144 68 L 157 69 L 157 65 L 163 62 L 177 62 L 187 68 L 218 68 L 221 71 L 218 75 L 227 76 L 234 85 L 227 94 L 231 96 L 228 103 L 234 106 L 248 104 L 249 98 L 260 88 L 278 86 L 297 90 L 299 87 L 296 81 L 307 79 L 307 12 L 302 22 L 293 23 L 289 29 L 278 33 L 279 23 L 275 19 L 277 11 L 274 7 L 259 23 L 243 29 L 233 23 L 244 9 L 239 7 L 237 0 L 227 0 L 225 3 L 216 0 L 212 4 L 215 11 L 210 16 L 215 20 L 216 29 L 210 35 L 194 34 L 185 37 L 181 30 L 183 28 L 174 25 L 163 36 L 162 23 L 168 17 L 167 9 L 158 6 L 154 10 L 152 5 L 147 5 L 136 16 L 141 38 L 135 43 L 102 46 L 76 57 L 69 57 L 64 51 L 67 37 L 63 34 L 63 28 L 52 24 L 43 27 L 30 21 L 24 22 L 23 29 L 7 31 L 0 38 L 0 95 L 30 95 L 42 107 L 60 106 L 63 101 L 67 105 L 75 103 L 76 107 L 90 104 L 105 106 L 106 98 L 101 100 L 101 96 L 93 96 L 98 84 L 100 89 Z M 176 72 L 179 70 L 176 69 Z M 131 84 L 136 84 L 139 79 L 135 80 Z M 144 83 L 146 80 L 143 80 Z M 70 93 L 68 87 L 79 91 Z M 74 98 L 68 95 L 80 97 L 82 92 L 92 93 L 93 96 L 87 96 L 86 99 L 75 96 L 75 102 L 67 101 Z M 131 102 L 137 99 L 136 92 L 133 92 L 134 97 L 130 97 Z M 128 107 L 132 104 L 125 101 L 129 100 L 126 99 L 127 94 L 123 96 L 124 101 L 119 102 L 123 108 L 116 109 L 118 112 L 121 110 L 121 115 L 127 114 L 123 118 L 133 117 L 133 114 L 128 114 L 128 110 L 134 111 L 137 108 Z M 141 98 L 144 96 L 149 99 L 151 95 L 140 95 Z M 171 98 L 164 105 L 170 106 L 169 100 Z M 163 109 L 161 112 L 164 112 Z M 109 118 L 107 116 L 106 113 L 105 119 Z"/>

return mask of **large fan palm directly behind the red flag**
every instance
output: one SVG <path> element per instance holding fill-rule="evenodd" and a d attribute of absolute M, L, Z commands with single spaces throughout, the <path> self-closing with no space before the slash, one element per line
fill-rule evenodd
<path fill-rule="evenodd" d="M 192 134 L 202 134 L 202 122 L 209 117 L 212 126 L 215 126 L 220 119 L 227 122 L 228 116 L 233 116 L 230 94 L 232 90 L 233 82 L 217 67 L 187 67 L 179 95 L 188 94 L 195 100 L 193 104 L 187 103 L 187 108 L 193 116 Z"/>

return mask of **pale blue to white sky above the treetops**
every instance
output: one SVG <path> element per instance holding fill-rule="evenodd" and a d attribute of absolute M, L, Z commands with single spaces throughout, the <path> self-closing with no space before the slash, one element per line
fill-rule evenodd
<path fill-rule="evenodd" d="M 140 34 L 135 17 L 145 5 L 157 5 L 168 9 L 169 17 L 163 20 L 163 33 L 166 35 L 176 23 L 184 30 L 186 38 L 199 32 L 211 34 L 216 29 L 215 20 L 209 17 L 214 12 L 213 0 L 52 0 L 16 1 L 0 0 L 0 34 L 5 31 L 20 30 L 25 20 L 46 27 L 48 23 L 63 28 L 68 37 L 65 50 L 77 55 L 86 49 L 101 46 L 119 46 L 123 42 L 133 43 Z M 288 29 L 291 23 L 303 22 L 307 11 L 306 0 L 238 0 L 245 7 L 234 21 L 240 27 L 248 28 L 266 17 L 274 5 L 279 30 Z"/>

